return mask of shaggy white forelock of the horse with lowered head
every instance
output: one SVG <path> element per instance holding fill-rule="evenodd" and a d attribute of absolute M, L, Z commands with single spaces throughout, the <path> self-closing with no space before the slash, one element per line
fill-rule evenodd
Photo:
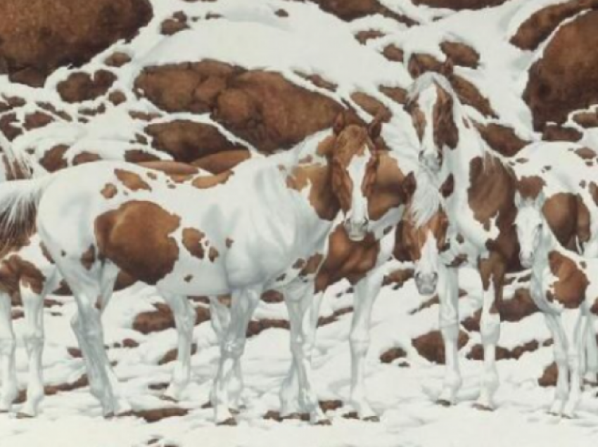
<path fill-rule="evenodd" d="M 416 176 L 415 193 L 409 203 L 409 219 L 416 228 L 426 225 L 443 207 L 443 197 L 435 183 L 434 174 L 426 167 L 420 167 Z"/>

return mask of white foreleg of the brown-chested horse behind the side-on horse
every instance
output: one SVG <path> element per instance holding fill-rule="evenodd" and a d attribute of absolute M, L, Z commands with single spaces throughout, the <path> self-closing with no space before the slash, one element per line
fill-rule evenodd
<path fill-rule="evenodd" d="M 378 422 L 379 418 L 367 401 L 365 358 L 369 347 L 371 310 L 382 287 L 384 271 L 376 268 L 355 285 L 353 319 L 349 343 L 351 346 L 350 403 L 362 420 Z"/>

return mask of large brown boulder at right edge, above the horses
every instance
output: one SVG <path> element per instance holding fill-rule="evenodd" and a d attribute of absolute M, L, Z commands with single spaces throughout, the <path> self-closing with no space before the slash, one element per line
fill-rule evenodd
<path fill-rule="evenodd" d="M 590 11 L 563 25 L 532 65 L 523 99 L 535 130 L 547 122 L 562 124 L 573 110 L 598 103 L 597 23 L 598 11 Z"/>

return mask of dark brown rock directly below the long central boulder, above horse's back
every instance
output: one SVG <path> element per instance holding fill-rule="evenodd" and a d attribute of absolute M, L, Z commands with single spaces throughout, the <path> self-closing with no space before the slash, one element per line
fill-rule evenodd
<path fill-rule="evenodd" d="M 150 124 L 145 131 L 153 137 L 154 148 L 172 155 L 177 162 L 190 163 L 206 155 L 244 149 L 227 140 L 217 127 L 184 119 Z"/>

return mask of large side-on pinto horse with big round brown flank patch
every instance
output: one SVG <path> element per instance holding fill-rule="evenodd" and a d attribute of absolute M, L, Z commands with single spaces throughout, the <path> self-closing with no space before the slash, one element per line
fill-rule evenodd
<path fill-rule="evenodd" d="M 246 326 L 265 286 L 285 286 L 286 297 L 300 302 L 339 213 L 350 238 L 365 237 L 379 162 L 372 140 L 379 131 L 380 122 L 345 126 L 339 117 L 322 142 L 324 163 L 277 167 L 248 160 L 217 176 L 174 177 L 97 162 L 0 187 L 0 211 L 8 212 L 4 238 L 24 231 L 20 224 L 36 212 L 39 235 L 75 295 L 79 314 L 72 326 L 104 415 L 129 410 L 103 351 L 94 306 L 98 297 L 108 299 L 120 269 L 155 285 L 164 297 L 231 292 L 215 420 L 234 421 L 224 377 L 243 352 Z M 296 324 L 303 315 L 300 306 L 295 310 Z M 302 360 L 304 380 L 310 372 Z"/>

